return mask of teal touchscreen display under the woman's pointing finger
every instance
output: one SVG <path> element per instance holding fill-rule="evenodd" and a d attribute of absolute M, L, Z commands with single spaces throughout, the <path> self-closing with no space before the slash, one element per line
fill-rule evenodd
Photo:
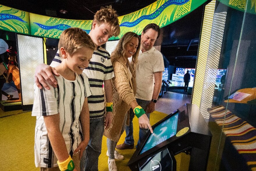
<path fill-rule="evenodd" d="M 163 121 L 163 123 L 159 123 L 159 125 L 157 125 L 154 128 L 153 134 L 150 134 L 140 154 L 153 148 L 154 146 L 160 144 L 161 142 L 169 139 L 170 137 L 173 137 L 174 135 L 176 135 L 178 114 L 179 113 L 177 112 L 176 114 L 171 116 L 169 119 Z"/>

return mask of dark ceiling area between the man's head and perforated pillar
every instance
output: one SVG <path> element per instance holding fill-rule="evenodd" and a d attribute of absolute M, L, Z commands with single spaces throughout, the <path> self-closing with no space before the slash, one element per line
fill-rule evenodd
<path fill-rule="evenodd" d="M 161 52 L 172 66 L 195 68 L 204 7 L 161 28 Z"/>

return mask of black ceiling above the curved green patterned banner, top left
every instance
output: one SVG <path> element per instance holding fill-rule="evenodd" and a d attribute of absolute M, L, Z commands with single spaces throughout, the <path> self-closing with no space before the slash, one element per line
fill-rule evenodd
<path fill-rule="evenodd" d="M 102 6 L 112 7 L 119 16 L 140 10 L 156 0 L 0 0 L 0 4 L 18 10 L 65 19 L 92 20 Z M 62 14 L 60 10 L 66 10 Z"/>

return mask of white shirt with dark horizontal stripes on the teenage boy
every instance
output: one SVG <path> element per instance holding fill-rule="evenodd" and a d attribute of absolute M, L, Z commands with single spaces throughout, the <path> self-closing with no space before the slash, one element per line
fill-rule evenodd
<path fill-rule="evenodd" d="M 51 62 L 51 67 L 56 67 L 61 63 L 59 51 Z M 88 98 L 90 119 L 104 117 L 104 93 L 102 89 L 103 81 L 114 77 L 113 66 L 109 53 L 102 47 L 98 47 L 93 52 L 88 68 L 83 72 L 87 75 L 90 83 L 92 95 Z"/>

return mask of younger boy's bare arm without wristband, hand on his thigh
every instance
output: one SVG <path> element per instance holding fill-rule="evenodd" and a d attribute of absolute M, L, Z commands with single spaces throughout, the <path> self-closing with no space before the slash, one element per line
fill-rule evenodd
<path fill-rule="evenodd" d="M 80 119 L 83 132 L 83 141 L 81 141 L 81 143 L 78 145 L 77 149 L 74 151 L 74 154 L 76 154 L 80 150 L 79 159 L 81 160 L 83 151 L 88 145 L 90 139 L 90 114 L 87 97 L 84 99 L 83 102 L 83 107 L 80 113 Z"/>

